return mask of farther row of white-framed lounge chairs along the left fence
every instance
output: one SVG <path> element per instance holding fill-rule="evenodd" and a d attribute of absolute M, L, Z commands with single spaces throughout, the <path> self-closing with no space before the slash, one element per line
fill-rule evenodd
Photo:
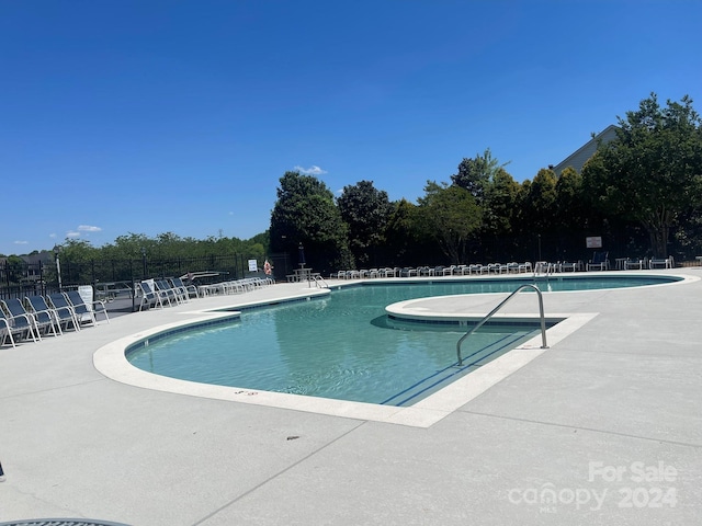
<path fill-rule="evenodd" d="M 214 294 L 245 293 L 273 283 L 273 279 L 263 277 L 247 277 L 212 285 L 186 284 L 180 277 L 145 279 L 138 283 L 139 310 L 171 307 Z"/>

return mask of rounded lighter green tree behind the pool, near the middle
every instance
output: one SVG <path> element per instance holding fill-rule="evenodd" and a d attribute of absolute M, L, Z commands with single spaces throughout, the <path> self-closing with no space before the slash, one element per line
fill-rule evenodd
<path fill-rule="evenodd" d="M 466 259 L 467 242 L 482 225 L 480 207 L 467 190 L 427 181 L 419 199 L 422 218 L 451 264 Z"/>

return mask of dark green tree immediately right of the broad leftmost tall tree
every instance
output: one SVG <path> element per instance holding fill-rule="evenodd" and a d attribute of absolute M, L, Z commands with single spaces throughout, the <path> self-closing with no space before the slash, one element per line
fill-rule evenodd
<path fill-rule="evenodd" d="M 349 227 L 349 248 L 356 264 L 367 266 L 371 254 L 383 244 L 383 232 L 393 214 L 387 192 L 376 190 L 372 181 L 361 181 L 343 187 L 337 206 Z"/>

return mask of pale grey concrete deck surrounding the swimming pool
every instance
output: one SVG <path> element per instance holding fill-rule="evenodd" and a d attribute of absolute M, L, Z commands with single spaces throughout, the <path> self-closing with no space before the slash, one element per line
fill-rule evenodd
<path fill-rule="evenodd" d="M 428 426 L 147 389 L 93 365 L 117 340 L 305 297 L 299 284 L 3 346 L 0 522 L 700 524 L 702 270 L 645 273 L 691 279 L 545 294 L 547 316 L 590 319 Z M 505 296 L 422 308 L 486 313 Z M 535 311 L 533 295 L 506 307 Z"/>

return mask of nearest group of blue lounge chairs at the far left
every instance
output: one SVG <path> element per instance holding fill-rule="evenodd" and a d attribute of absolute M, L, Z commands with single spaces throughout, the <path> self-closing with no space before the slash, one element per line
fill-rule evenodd
<path fill-rule="evenodd" d="M 95 325 L 97 316 L 110 317 L 102 301 L 86 301 L 78 290 L 54 293 L 46 296 L 26 296 L 0 301 L 0 345 L 8 342 L 42 340 L 58 336 L 72 329 L 80 331 L 87 324 Z"/>

